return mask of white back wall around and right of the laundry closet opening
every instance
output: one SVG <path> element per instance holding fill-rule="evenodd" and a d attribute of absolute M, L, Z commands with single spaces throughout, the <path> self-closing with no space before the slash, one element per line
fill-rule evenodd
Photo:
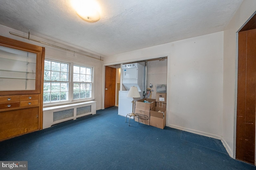
<path fill-rule="evenodd" d="M 168 56 L 167 126 L 222 136 L 223 32 L 104 58 L 104 65 Z"/>

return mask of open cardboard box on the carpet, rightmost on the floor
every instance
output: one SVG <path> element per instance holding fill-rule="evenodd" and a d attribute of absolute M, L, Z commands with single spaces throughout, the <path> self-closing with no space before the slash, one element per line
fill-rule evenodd
<path fill-rule="evenodd" d="M 166 125 L 166 108 L 155 107 L 154 109 L 150 110 L 150 126 L 164 129 L 165 125 Z"/>

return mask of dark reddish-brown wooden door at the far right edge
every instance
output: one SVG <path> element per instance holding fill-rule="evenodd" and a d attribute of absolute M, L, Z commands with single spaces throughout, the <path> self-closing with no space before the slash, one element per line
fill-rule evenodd
<path fill-rule="evenodd" d="M 236 159 L 255 162 L 256 29 L 238 33 Z"/>

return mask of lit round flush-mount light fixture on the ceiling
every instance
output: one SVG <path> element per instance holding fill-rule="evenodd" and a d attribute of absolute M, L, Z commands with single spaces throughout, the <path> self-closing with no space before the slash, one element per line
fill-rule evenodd
<path fill-rule="evenodd" d="M 100 20 L 100 6 L 94 0 L 71 0 L 76 14 L 87 22 Z"/>

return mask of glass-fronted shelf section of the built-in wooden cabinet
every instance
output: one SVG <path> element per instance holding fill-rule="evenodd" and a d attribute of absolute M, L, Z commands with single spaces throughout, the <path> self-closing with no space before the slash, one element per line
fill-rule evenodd
<path fill-rule="evenodd" d="M 0 91 L 36 89 L 36 53 L 0 46 L 0 56 Z"/>

